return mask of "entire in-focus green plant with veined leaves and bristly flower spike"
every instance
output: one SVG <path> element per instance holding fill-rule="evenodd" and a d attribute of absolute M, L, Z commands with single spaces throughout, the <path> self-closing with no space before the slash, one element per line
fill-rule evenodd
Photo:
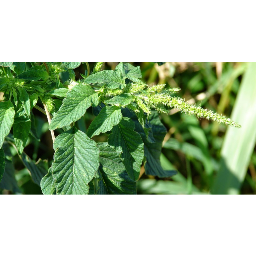
<path fill-rule="evenodd" d="M 1 189 L 12 190 L 6 184 L 17 188 L 14 168 L 8 167 L 16 150 L 24 173 L 30 172 L 44 194 L 136 194 L 143 168 L 146 175 L 159 178 L 177 173 L 161 166 L 167 131 L 158 113 L 167 115 L 175 108 L 240 127 L 175 96 L 179 88 L 147 85 L 139 66 L 120 62 L 114 70 L 101 71 L 104 63 L 97 62 L 90 74 L 89 63 L 83 64 L 87 70 L 76 79 L 74 69 L 81 62 L 0 62 Z M 95 118 L 87 129 L 85 116 L 91 109 Z M 29 137 L 38 142 L 42 133 L 33 111 L 46 114 L 49 122 L 55 151 L 49 162 L 36 162 L 23 152 Z M 104 142 L 95 142 L 98 135 Z"/>

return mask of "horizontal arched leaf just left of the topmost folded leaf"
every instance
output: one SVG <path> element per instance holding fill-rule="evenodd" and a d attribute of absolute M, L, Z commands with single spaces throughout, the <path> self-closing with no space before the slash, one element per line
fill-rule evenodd
<path fill-rule="evenodd" d="M 124 78 L 120 72 L 114 70 L 103 70 L 90 75 L 84 80 L 86 84 L 104 83 L 109 89 L 124 88 L 126 86 Z"/>

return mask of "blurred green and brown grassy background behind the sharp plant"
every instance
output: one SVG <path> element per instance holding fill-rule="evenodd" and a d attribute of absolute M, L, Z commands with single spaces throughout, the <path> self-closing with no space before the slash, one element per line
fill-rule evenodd
<path fill-rule="evenodd" d="M 103 69 L 115 69 L 119 62 L 105 62 Z M 232 128 L 197 119 L 171 109 L 161 115 L 167 129 L 161 164 L 175 169 L 172 178 L 148 176 L 141 168 L 138 194 L 255 194 L 256 193 L 256 62 L 130 62 L 140 66 L 142 80 L 148 85 L 179 87 L 178 96 L 219 114 L 231 117 L 242 128 Z M 95 62 L 89 62 L 92 70 Z M 86 72 L 86 65 L 75 69 L 76 79 Z M 68 79 L 68 72 L 61 80 Z M 40 105 L 40 102 L 38 102 Z M 46 116 L 33 109 L 40 141 L 29 137 L 25 153 L 51 165 L 54 150 Z M 78 128 L 86 131 L 94 116 L 88 110 Z M 61 130 L 56 131 L 56 135 Z M 95 136 L 96 142 L 107 136 Z M 16 186 L 2 194 L 42 194 L 30 173 L 14 156 Z M 49 162 L 48 162 L 49 161 Z"/>

